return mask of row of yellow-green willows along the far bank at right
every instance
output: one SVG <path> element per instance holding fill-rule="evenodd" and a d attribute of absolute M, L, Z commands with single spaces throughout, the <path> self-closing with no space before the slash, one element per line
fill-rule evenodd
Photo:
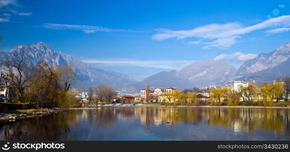
<path fill-rule="evenodd" d="M 192 106 L 289 106 L 290 78 L 283 83 L 256 85 L 248 82 L 247 86 L 234 86 L 209 89 L 208 96 L 200 95 L 198 88 L 175 91 L 162 96 L 161 105 Z"/>

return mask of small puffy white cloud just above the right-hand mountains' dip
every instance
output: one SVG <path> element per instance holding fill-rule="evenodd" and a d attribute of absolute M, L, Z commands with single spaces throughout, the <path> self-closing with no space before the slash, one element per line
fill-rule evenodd
<path fill-rule="evenodd" d="M 244 54 L 241 52 L 236 52 L 233 54 L 221 54 L 217 57 L 215 57 L 215 60 L 224 60 L 229 62 L 241 62 L 241 61 L 247 61 L 250 59 L 255 58 L 256 54 Z"/>

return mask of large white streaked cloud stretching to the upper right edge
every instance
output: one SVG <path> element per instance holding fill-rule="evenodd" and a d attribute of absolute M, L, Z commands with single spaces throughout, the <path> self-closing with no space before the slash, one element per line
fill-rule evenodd
<path fill-rule="evenodd" d="M 240 23 L 232 22 L 226 24 L 208 24 L 199 26 L 191 30 L 170 30 L 170 29 L 157 29 L 157 34 L 152 36 L 153 40 L 162 41 L 165 39 L 176 38 L 177 40 L 186 39 L 189 37 L 196 37 L 201 39 L 189 44 L 201 44 L 204 49 L 220 48 L 227 49 L 231 45 L 238 42 L 241 35 L 246 33 L 262 30 L 271 27 L 289 27 L 290 15 L 271 18 L 261 23 L 243 26 Z M 286 30 L 280 30 L 284 32 Z"/>

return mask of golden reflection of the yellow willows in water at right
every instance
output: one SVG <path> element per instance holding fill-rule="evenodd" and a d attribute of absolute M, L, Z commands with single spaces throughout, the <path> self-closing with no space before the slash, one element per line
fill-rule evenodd
<path fill-rule="evenodd" d="M 135 108 L 140 116 L 141 124 L 150 129 L 150 123 L 155 125 L 177 125 L 179 123 L 222 126 L 234 131 L 249 133 L 263 129 L 276 134 L 289 130 L 288 110 L 285 109 L 253 109 L 253 108 Z"/>

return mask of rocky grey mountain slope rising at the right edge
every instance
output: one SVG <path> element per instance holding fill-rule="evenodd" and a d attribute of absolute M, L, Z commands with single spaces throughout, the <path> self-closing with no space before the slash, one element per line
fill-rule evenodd
<path fill-rule="evenodd" d="M 234 80 L 270 83 L 275 79 L 290 76 L 290 43 L 281 45 L 270 53 L 261 53 L 245 61 L 238 69 Z"/>

